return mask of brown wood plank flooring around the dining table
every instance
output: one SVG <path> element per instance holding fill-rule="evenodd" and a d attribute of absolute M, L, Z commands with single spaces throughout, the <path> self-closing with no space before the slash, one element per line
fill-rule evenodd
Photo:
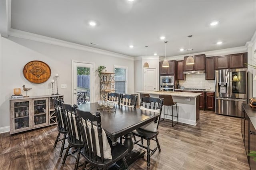
<path fill-rule="evenodd" d="M 0 169 L 74 169 L 75 160 L 71 156 L 61 164 L 64 154 L 59 157 L 60 142 L 53 148 L 57 134 L 56 126 L 14 135 L 0 134 Z M 240 118 L 200 111 L 197 126 L 179 123 L 172 127 L 169 120 L 164 120 L 159 125 L 158 140 L 162 150 L 151 156 L 152 170 L 249 169 Z M 154 141 L 150 145 L 156 146 Z M 146 155 L 129 166 L 130 170 L 146 167 Z"/>

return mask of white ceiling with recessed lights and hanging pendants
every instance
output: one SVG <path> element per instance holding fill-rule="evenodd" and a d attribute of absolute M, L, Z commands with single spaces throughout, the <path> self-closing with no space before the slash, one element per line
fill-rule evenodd
<path fill-rule="evenodd" d="M 256 31 L 256 0 L 12 0 L 11 11 L 11 28 L 134 57 L 145 45 L 164 56 L 160 36 L 174 56 L 188 53 L 179 49 L 188 49 L 189 34 L 198 53 L 244 46 Z"/>

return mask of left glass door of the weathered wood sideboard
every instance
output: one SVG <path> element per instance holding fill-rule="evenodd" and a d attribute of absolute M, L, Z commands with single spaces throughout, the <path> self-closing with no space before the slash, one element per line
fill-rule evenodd
<path fill-rule="evenodd" d="M 29 101 L 14 102 L 14 130 L 30 127 Z"/>

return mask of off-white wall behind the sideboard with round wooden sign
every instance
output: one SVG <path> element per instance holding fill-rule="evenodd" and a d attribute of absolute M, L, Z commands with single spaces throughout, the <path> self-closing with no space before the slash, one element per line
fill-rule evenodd
<path fill-rule="evenodd" d="M 107 52 L 106 52 L 107 53 Z M 116 53 L 113 56 L 116 56 Z M 128 91 L 134 93 L 134 60 L 122 55 L 120 57 L 89 52 L 80 49 L 62 47 L 49 43 L 36 42 L 22 38 L 0 37 L 0 128 L 9 126 L 9 97 L 13 94 L 14 88 L 21 88 L 22 85 L 32 88 L 28 91 L 30 96 L 52 94 L 51 79 L 55 73 L 58 77 L 58 93 L 64 95 L 66 103 L 72 103 L 72 60 L 87 61 L 94 63 L 94 70 L 99 65 L 105 65 L 107 71 L 114 71 L 114 65 L 128 67 Z M 48 81 L 41 84 L 34 84 L 27 81 L 22 73 L 26 63 L 32 60 L 40 60 L 47 63 L 52 71 Z M 61 89 L 61 84 L 67 84 L 66 89 Z M 100 85 L 98 74 L 94 72 L 95 101 L 100 98 Z M 22 90 L 22 94 L 25 92 Z"/>

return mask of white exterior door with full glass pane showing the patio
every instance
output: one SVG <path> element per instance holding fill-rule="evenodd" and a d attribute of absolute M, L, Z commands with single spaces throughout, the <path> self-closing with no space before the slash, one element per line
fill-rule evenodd
<path fill-rule="evenodd" d="M 73 82 L 72 82 L 72 102 L 78 104 L 79 92 L 87 92 L 84 102 L 94 102 L 93 100 L 93 64 L 72 61 L 73 65 Z M 84 103 L 79 100 L 79 104 Z"/>

